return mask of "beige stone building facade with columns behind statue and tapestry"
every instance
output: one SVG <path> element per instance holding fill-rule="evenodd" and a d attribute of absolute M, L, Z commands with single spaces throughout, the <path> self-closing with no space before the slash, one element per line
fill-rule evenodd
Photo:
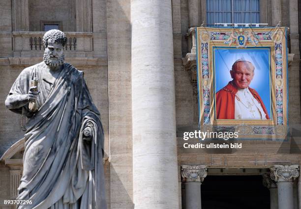
<path fill-rule="evenodd" d="M 290 28 L 288 140 L 184 149 L 183 132 L 198 128 L 194 27 L 208 1 L 1 0 L 0 209 L 14 207 L 4 200 L 17 195 L 26 123 L 4 100 L 42 61 L 47 27 L 66 33 L 66 61 L 101 112 L 109 209 L 301 209 L 301 3 L 259 0 L 260 23 Z"/>

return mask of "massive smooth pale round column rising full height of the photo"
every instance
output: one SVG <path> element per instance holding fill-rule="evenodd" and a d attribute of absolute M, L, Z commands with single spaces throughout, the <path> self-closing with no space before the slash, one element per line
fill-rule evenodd
<path fill-rule="evenodd" d="M 171 0 L 131 0 L 131 25 L 135 209 L 178 209 Z"/>

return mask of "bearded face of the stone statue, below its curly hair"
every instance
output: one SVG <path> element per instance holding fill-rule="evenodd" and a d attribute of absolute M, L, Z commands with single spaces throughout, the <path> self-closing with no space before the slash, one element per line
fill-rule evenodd
<path fill-rule="evenodd" d="M 53 43 L 50 39 L 48 39 L 48 46 L 44 52 L 44 62 L 52 67 L 57 67 L 64 63 L 63 48 L 61 43 Z"/>

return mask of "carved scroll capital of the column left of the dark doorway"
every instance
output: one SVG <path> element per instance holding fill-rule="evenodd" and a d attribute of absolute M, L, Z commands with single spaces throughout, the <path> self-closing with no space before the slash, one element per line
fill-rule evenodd
<path fill-rule="evenodd" d="M 182 165 L 181 176 L 184 182 L 203 182 L 204 178 L 207 177 L 207 166 L 206 165 Z"/>

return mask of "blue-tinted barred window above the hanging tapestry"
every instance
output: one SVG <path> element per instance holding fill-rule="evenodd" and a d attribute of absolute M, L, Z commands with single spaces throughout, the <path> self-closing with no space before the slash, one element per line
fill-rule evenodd
<path fill-rule="evenodd" d="M 207 0 L 207 26 L 214 23 L 260 23 L 260 0 Z"/>

